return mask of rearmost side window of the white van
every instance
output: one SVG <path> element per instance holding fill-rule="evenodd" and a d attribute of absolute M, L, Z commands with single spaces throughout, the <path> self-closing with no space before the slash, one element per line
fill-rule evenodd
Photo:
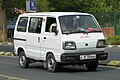
<path fill-rule="evenodd" d="M 26 32 L 27 22 L 28 22 L 27 17 L 21 17 L 18 22 L 17 31 Z"/>

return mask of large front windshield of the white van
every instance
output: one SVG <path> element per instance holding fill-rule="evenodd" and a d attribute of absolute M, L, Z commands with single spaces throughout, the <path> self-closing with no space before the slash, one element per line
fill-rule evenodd
<path fill-rule="evenodd" d="M 63 34 L 101 32 L 95 19 L 90 15 L 69 15 L 59 17 Z"/>

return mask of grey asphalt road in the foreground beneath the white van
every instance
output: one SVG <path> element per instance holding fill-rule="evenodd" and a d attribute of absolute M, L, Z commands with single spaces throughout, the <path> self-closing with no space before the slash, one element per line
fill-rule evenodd
<path fill-rule="evenodd" d="M 97 71 L 89 72 L 84 66 L 67 66 L 51 73 L 40 63 L 22 69 L 18 58 L 0 56 L 0 80 L 120 80 L 120 69 L 99 66 Z"/>

